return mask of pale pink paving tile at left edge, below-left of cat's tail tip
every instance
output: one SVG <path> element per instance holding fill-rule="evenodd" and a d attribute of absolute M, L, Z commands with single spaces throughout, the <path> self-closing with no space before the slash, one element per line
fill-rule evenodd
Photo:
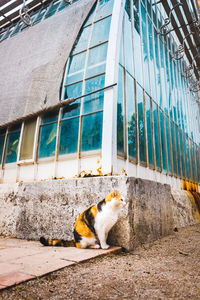
<path fill-rule="evenodd" d="M 0 262 L 9 262 L 10 260 L 15 260 L 20 257 L 25 257 L 28 255 L 33 255 L 38 253 L 40 250 L 29 248 L 6 248 L 0 250 Z"/>

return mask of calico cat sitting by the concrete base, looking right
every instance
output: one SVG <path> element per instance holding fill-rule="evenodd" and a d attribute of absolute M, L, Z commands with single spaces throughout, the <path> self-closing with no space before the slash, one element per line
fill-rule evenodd
<path fill-rule="evenodd" d="M 77 248 L 108 249 L 106 243 L 110 229 L 118 220 L 119 212 L 126 205 L 119 191 L 109 193 L 97 205 L 86 209 L 74 226 L 74 240 L 51 240 L 40 238 L 44 246 L 76 246 Z"/>

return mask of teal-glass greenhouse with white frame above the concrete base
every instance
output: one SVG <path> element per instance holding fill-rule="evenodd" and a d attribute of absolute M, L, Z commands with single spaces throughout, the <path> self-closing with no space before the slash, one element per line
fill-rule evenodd
<path fill-rule="evenodd" d="M 1 183 L 123 174 L 198 190 L 196 0 L 3 2 Z"/>

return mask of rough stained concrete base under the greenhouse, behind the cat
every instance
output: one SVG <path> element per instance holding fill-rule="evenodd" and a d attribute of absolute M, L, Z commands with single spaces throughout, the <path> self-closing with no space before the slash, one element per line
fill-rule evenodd
<path fill-rule="evenodd" d="M 200 222 L 191 195 L 169 185 L 133 177 L 93 177 L 0 185 L 0 234 L 38 240 L 73 238 L 78 215 L 118 189 L 127 206 L 109 234 L 110 244 L 128 250 Z"/>

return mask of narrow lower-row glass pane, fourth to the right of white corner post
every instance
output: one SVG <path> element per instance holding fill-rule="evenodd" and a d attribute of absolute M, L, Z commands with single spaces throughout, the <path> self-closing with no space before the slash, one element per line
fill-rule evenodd
<path fill-rule="evenodd" d="M 148 95 L 146 95 L 146 120 L 147 120 L 147 143 L 148 143 L 149 166 L 151 168 L 154 168 L 151 100 Z"/>

